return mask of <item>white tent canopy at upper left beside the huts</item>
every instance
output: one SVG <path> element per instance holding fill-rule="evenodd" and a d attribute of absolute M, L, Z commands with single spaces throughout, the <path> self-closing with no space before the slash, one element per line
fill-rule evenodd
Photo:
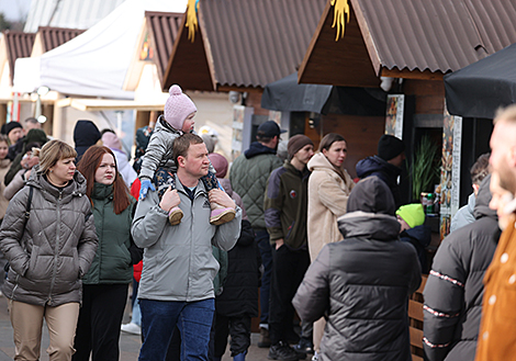
<path fill-rule="evenodd" d="M 46 86 L 65 94 L 133 99 L 123 91 L 145 11 L 184 12 L 187 0 L 127 0 L 90 30 L 34 58 L 14 66 L 18 92 Z"/>

